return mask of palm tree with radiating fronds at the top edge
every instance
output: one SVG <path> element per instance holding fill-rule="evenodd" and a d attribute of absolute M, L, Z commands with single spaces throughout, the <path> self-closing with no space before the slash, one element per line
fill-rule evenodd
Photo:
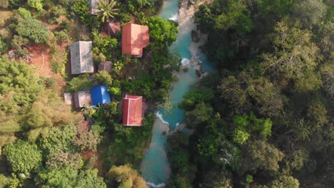
<path fill-rule="evenodd" d="M 112 19 L 114 16 L 116 16 L 119 9 L 115 9 L 116 1 L 114 0 L 102 0 L 98 1 L 98 6 L 96 9 L 99 10 L 98 16 L 102 18 L 103 22 L 108 21 L 109 19 Z"/>

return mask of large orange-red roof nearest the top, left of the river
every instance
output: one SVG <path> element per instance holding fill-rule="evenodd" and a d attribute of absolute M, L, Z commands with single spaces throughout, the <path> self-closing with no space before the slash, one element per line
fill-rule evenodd
<path fill-rule="evenodd" d="M 133 56 L 143 56 L 143 48 L 148 46 L 150 36 L 148 26 L 128 23 L 123 26 L 122 54 L 128 53 Z"/>

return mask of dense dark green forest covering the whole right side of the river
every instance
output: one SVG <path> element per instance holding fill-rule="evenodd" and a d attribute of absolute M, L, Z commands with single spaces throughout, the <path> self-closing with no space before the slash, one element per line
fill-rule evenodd
<path fill-rule="evenodd" d="M 222 78 L 221 83 L 204 80 L 199 87 L 213 89 L 214 100 L 204 103 L 223 117 L 215 123 L 211 117 L 193 133 L 191 161 L 201 169 L 194 186 L 245 186 L 240 177 L 246 177 L 246 187 L 298 187 L 298 180 L 289 177 L 296 174 L 300 187 L 330 187 L 318 177 L 332 171 L 323 172 L 317 164 L 330 163 L 326 156 L 333 144 L 332 18 L 328 1 L 215 0 L 199 7 L 195 22 L 208 36 L 202 49 Z M 194 107 L 184 109 L 190 113 Z M 231 117 L 233 124 L 224 123 Z M 222 150 L 231 154 L 232 148 L 239 151 L 232 155 L 238 156 L 239 169 L 226 162 L 231 158 L 221 157 Z M 312 180 L 315 169 L 319 174 Z M 208 177 L 232 170 L 238 173 L 230 183 L 224 182 L 226 174 Z M 255 174 L 252 181 L 247 173 Z M 178 180 L 184 182 L 183 176 Z"/>

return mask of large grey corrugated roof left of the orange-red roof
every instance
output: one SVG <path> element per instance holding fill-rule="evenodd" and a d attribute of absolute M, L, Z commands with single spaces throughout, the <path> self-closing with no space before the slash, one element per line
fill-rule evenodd
<path fill-rule="evenodd" d="M 71 73 L 93 73 L 93 43 L 91 41 L 76 41 L 71 44 Z"/>

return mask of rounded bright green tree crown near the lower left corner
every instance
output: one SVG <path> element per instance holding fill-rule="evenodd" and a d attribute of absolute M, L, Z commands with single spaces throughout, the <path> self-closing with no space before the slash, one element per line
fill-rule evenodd
<path fill-rule="evenodd" d="M 13 172 L 29 174 L 41 165 L 41 150 L 34 143 L 18 140 L 6 145 L 3 153 Z"/>

